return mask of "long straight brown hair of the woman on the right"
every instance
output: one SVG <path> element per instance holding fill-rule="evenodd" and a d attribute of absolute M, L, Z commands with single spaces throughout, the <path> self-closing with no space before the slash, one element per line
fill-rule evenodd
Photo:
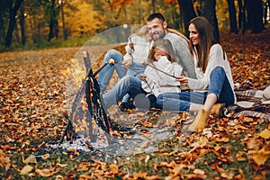
<path fill-rule="evenodd" d="M 202 72 L 204 73 L 208 64 L 211 46 L 218 43 L 218 41 L 214 39 L 213 27 L 205 17 L 195 17 L 188 25 L 191 23 L 199 33 L 200 43 L 193 46 L 192 41 L 190 40 L 190 50 L 193 56 L 197 56 L 197 66 L 202 68 Z"/>

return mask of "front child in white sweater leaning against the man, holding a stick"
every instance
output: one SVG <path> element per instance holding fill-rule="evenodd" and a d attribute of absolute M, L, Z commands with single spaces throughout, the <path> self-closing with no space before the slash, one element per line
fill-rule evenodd
<path fill-rule="evenodd" d="M 148 66 L 140 75 L 142 89 L 157 97 L 162 93 L 181 92 L 176 77 L 182 75 L 183 68 L 175 61 L 175 52 L 169 40 L 156 40 L 148 55 Z"/>

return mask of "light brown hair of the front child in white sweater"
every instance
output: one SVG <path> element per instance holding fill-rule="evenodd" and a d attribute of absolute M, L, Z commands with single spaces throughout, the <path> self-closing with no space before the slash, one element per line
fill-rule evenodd
<path fill-rule="evenodd" d="M 162 49 L 166 51 L 166 58 L 171 61 L 175 62 L 175 50 L 173 49 L 172 43 L 170 40 L 166 39 L 159 39 L 156 40 L 153 44 L 152 49 L 150 49 L 150 52 L 148 54 L 148 63 L 153 63 L 155 60 L 155 53 L 157 52 L 157 49 Z"/>

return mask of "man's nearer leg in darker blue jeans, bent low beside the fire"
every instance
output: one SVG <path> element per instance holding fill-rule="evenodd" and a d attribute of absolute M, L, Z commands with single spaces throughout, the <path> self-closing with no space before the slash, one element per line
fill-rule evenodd
<path fill-rule="evenodd" d="M 135 76 L 123 76 L 110 91 L 103 94 L 104 107 L 111 107 L 120 101 L 125 94 L 130 94 L 132 98 L 135 98 L 138 94 L 146 94 L 141 88 L 139 78 Z"/>

